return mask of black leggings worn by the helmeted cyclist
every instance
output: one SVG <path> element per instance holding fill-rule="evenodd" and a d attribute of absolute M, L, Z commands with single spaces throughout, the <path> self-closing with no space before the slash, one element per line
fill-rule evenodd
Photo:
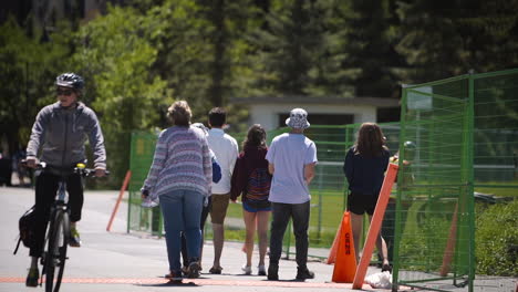
<path fill-rule="evenodd" d="M 31 257 L 41 257 L 43 251 L 46 223 L 50 217 L 50 207 L 54 201 L 59 188 L 60 176 L 41 173 L 35 180 L 35 225 L 34 246 L 31 247 Z M 66 191 L 69 192 L 70 221 L 81 220 L 81 209 L 83 208 L 83 181 L 80 175 L 72 174 L 66 177 Z"/>

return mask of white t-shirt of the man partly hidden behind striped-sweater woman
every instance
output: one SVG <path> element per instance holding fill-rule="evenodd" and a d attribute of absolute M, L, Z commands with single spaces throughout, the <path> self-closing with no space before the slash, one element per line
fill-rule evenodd
<path fill-rule="evenodd" d="M 221 180 L 218 184 L 213 184 L 213 195 L 228 194 L 230 192 L 234 165 L 239 155 L 237 142 L 220 128 L 209 129 L 207 140 L 221 167 Z"/>

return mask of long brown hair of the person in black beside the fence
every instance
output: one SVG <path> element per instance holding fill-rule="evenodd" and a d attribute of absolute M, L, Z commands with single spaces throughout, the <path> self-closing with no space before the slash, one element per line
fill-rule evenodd
<path fill-rule="evenodd" d="M 385 137 L 380 126 L 375 123 L 363 123 L 358 132 L 358 140 L 354 154 L 365 157 L 381 156 L 385 146 Z"/>

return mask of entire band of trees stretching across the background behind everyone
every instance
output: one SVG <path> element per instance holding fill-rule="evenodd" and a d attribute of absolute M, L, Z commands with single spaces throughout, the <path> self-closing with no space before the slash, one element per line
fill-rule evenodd
<path fill-rule="evenodd" d="M 517 11 L 516 0 L 130 0 L 89 22 L 72 13 L 45 38 L 9 20 L 1 136 L 25 143 L 55 75 L 75 71 L 122 173 L 130 132 L 166 127 L 175 100 L 195 122 L 224 106 L 244 131 L 248 113 L 231 98 L 397 97 L 400 83 L 516 67 Z"/>

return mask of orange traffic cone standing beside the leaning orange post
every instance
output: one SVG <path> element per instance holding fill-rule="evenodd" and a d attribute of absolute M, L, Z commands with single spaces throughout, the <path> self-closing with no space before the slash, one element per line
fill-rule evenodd
<path fill-rule="evenodd" d="M 351 215 L 343 213 L 340 228 L 340 238 L 336 250 L 336 260 L 333 270 L 333 282 L 352 283 L 356 272 L 356 255 L 354 252 L 354 240 L 351 229 Z"/>

